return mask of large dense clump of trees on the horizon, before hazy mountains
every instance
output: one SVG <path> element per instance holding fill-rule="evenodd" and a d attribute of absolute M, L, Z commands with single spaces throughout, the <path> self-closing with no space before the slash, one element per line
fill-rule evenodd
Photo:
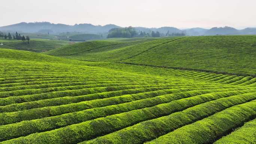
<path fill-rule="evenodd" d="M 126 27 L 126 28 L 112 28 L 109 30 L 109 34 L 107 35 L 107 38 L 112 37 L 124 37 L 124 38 L 131 38 L 138 36 L 137 31 L 132 27 Z"/>

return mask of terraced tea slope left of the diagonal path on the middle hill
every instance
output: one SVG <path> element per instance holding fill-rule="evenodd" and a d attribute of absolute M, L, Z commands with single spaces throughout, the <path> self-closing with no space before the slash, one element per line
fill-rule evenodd
<path fill-rule="evenodd" d="M 86 61 L 119 61 L 144 52 L 149 48 L 171 42 L 176 37 L 169 39 L 144 39 L 126 42 L 116 41 L 94 41 L 85 42 L 50 50 L 45 54 L 53 56 L 64 56 L 65 58 L 79 59 Z M 91 46 L 92 43 L 97 46 Z M 78 46 L 79 45 L 79 46 Z M 72 52 L 71 52 L 72 51 Z M 73 54 L 74 52 L 74 54 Z M 65 53 L 65 54 L 63 54 Z"/>

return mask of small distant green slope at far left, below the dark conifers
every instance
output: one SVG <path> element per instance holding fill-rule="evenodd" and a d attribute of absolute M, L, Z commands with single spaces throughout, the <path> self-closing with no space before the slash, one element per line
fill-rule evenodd
<path fill-rule="evenodd" d="M 0 48 L 27 50 L 31 52 L 45 52 L 51 49 L 67 45 L 68 41 L 62 40 L 45 40 L 45 39 L 31 39 L 30 43 L 22 42 L 21 40 L 3 40 L 0 39 L 3 45 Z"/>

